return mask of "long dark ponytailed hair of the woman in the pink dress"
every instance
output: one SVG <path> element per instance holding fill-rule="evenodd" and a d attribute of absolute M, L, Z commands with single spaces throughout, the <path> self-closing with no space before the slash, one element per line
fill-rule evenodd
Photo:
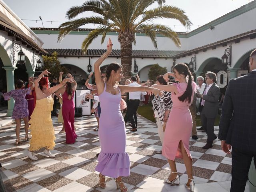
<path fill-rule="evenodd" d="M 184 63 L 179 63 L 176 64 L 174 67 L 178 71 L 179 74 L 184 74 L 184 76 L 188 76 L 188 86 L 186 88 L 186 91 L 182 96 L 179 96 L 178 99 L 182 102 L 188 101 L 188 103 L 191 102 L 191 97 L 192 97 L 192 75 L 191 72 L 188 68 L 188 66 Z"/>

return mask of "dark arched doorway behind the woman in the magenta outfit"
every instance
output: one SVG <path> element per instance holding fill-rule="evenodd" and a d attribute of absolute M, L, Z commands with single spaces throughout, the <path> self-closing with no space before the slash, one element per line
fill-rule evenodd
<path fill-rule="evenodd" d="M 84 70 L 73 64 L 61 64 L 61 66 L 65 66 L 68 73 L 74 77 L 77 83 L 77 89 L 86 89 L 84 83 L 86 82 L 88 76 Z"/>

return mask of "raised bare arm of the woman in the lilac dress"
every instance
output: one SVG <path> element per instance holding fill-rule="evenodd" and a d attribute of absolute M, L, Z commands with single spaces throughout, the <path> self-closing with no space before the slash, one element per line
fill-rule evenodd
<path fill-rule="evenodd" d="M 113 46 L 112 41 L 109 38 L 108 45 L 107 45 L 107 51 L 100 58 L 98 58 L 98 60 L 94 63 L 94 75 L 95 75 L 96 85 L 98 88 L 99 95 L 104 91 L 104 86 L 105 86 L 104 81 L 101 78 L 100 65 L 111 54 L 112 46 Z"/>

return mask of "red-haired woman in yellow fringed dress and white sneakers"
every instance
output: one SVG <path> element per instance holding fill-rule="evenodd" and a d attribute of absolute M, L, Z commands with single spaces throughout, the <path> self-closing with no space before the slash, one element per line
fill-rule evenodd
<path fill-rule="evenodd" d="M 31 160 L 38 160 L 34 151 L 45 148 L 44 153 L 51 158 L 55 155 L 50 152 L 55 146 L 54 128 L 52 125 L 51 111 L 53 110 L 52 94 L 61 88 L 66 82 L 72 82 L 72 79 L 66 78 L 61 84 L 50 88 L 48 75 L 50 72 L 44 70 L 34 81 L 36 92 L 36 107 L 31 115 L 29 129 L 32 138 L 30 139 L 30 148 L 28 157 Z"/>

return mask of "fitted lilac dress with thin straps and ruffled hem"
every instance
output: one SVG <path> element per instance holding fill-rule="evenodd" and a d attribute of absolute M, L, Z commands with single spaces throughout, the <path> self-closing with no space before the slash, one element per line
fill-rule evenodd
<path fill-rule="evenodd" d="M 120 90 L 119 90 L 120 91 Z M 130 158 L 126 152 L 126 130 L 120 111 L 121 93 L 106 92 L 100 98 L 99 138 L 101 152 L 95 170 L 112 178 L 130 175 Z"/>

